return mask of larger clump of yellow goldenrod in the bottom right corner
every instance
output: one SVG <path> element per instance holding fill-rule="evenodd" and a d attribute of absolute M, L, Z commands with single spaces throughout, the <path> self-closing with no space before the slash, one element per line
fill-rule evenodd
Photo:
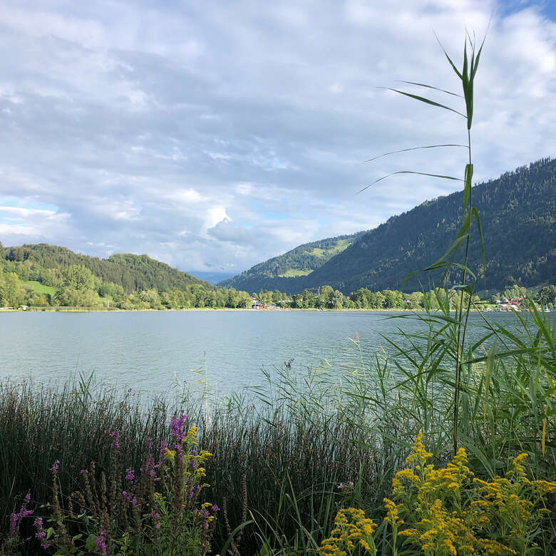
<path fill-rule="evenodd" d="M 514 549 L 524 552 L 534 544 L 532 533 L 546 513 L 535 507 L 556 483 L 530 481 L 526 453 L 513 459 L 505 478 L 490 481 L 473 478 L 464 448 L 445 468 L 426 465 L 430 457 L 419 435 L 407 458 L 415 471 L 402 470 L 393 479 L 398 511 L 411 525 L 398 535 L 430 555 L 517 554 Z"/>

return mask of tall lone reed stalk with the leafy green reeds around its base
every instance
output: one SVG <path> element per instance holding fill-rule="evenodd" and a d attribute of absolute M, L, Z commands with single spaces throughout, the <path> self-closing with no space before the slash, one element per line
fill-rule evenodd
<path fill-rule="evenodd" d="M 438 37 L 437 37 L 438 39 Z M 440 43 L 440 41 L 438 41 Z M 461 93 L 405 81 L 404 83 L 448 95 L 463 101 L 461 111 L 398 89 L 403 96 L 449 110 L 465 119 L 466 145 L 427 145 L 423 148 L 464 147 L 467 160 L 463 180 L 446 175 L 403 170 L 395 174 L 429 175 L 463 182 L 463 206 L 458 235 L 436 262 L 418 272 L 443 270 L 441 285 L 450 272 L 460 276 L 459 302 L 451 314 L 448 299 L 434 291 L 425 296 L 426 314 L 416 315 L 423 325 L 418 334 L 404 334 L 401 339 L 386 338 L 397 349 L 393 365 L 405 377 L 396 385 L 398 396 L 416 402 L 409 404 L 420 429 L 426 432 L 429 446 L 436 454 L 445 453 L 451 441 L 451 453 L 459 446 L 473 453 L 476 465 L 491 477 L 503 468 L 505 459 L 516 451 L 535 453 L 536 472 L 554 472 L 555 400 L 555 327 L 537 312 L 532 301 L 527 303 L 531 318 L 518 317 L 518 328 L 511 330 L 488 321 L 473 305 L 478 274 L 485 274 L 485 244 L 480 216 L 473 205 L 473 158 L 471 129 L 474 112 L 474 86 L 485 40 L 477 45 L 475 36 L 466 34 L 463 62 L 458 68 L 441 45 L 451 69 L 457 76 Z M 393 154 L 393 153 L 388 153 Z M 375 159 L 372 159 L 375 160 Z M 388 177 L 388 176 L 386 176 Z M 381 178 L 383 179 L 383 178 Z M 380 181 L 380 180 L 378 180 Z M 478 235 L 482 267 L 471 268 L 470 242 Z M 476 256 L 477 254 L 475 254 Z M 475 272 L 474 272 L 475 271 Z M 410 274 L 408 279 L 416 272 Z M 431 311 L 431 296 L 436 297 Z M 469 314 L 477 309 L 484 321 L 485 335 L 479 341 L 469 340 Z M 485 348 L 488 346 L 488 351 Z M 481 353 L 480 351 L 483 351 Z M 448 414 L 452 413 L 451 418 Z M 547 444 L 549 439 L 549 444 Z M 432 443 L 432 444 L 431 444 Z"/>

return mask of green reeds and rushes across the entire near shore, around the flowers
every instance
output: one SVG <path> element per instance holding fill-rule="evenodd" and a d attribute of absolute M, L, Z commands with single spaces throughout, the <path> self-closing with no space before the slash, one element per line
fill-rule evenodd
<path fill-rule="evenodd" d="M 135 493 L 134 486 L 125 483 L 126 470 L 133 469 L 135 478 L 140 477 L 140 468 L 145 469 L 150 453 L 145 448 L 150 438 L 150 444 L 156 447 L 152 453 L 158 473 L 167 460 L 165 450 L 160 460 L 160 443 L 169 443 L 170 451 L 175 449 L 168 423 L 172 417 L 184 414 L 187 419 L 182 430 L 197 426 L 198 453 L 212 454 L 202 466 L 206 473 L 202 484 L 206 482 L 210 487 L 203 488 L 197 500 L 198 507 L 210 502 L 211 508 L 220 508 L 213 524 L 211 521 L 212 552 L 207 553 L 316 553 L 334 530 L 336 510 L 359 508 L 365 519 L 380 527 L 381 534 L 374 536 L 378 553 L 392 554 L 392 530 L 384 522 L 391 510 L 385 507 L 383 498 L 393 500 L 399 519 L 407 525 L 421 519 L 411 508 L 399 507 L 403 500 L 397 499 L 393 490 L 398 471 L 408 468 L 417 475 L 425 473 L 426 465 L 420 471 L 418 462 L 410 460 L 410 465 L 405 464 L 413 453 L 411 446 L 418 433 L 423 433 L 423 446 L 433 454 L 426 463 L 433 463 L 435 469 L 446 469 L 452 458 L 453 421 L 449 415 L 453 406 L 453 318 L 446 305 L 443 312 L 424 312 L 420 318 L 420 332 L 391 339 L 397 345 L 391 356 L 383 354 L 374 361 L 354 362 L 350 369 L 344 369 L 341 381 L 324 371 L 293 376 L 284 367 L 277 378 L 267 376 L 267 388 L 228 399 L 203 400 L 187 392 L 145 398 L 95 385 L 93 377 L 81 377 L 58 388 L 2 383 L 0 466 L 8 470 L 0 481 L 5 552 L 10 553 L 10 542 L 29 537 L 27 553 L 40 552 L 41 537 L 36 537 L 38 531 L 34 527 L 37 517 L 42 518 L 44 531 L 49 527 L 58 530 L 56 520 L 49 520 L 53 513 L 51 468 L 59 460 L 56 485 L 67 535 L 83 535 L 75 544 L 86 554 L 101 554 L 100 550 L 84 548 L 86 539 L 94 535 L 96 540 L 101 529 L 91 513 L 94 505 L 91 510 L 86 503 L 85 515 L 91 519 L 77 518 L 81 515 L 78 495 L 70 498 L 71 493 L 79 492 L 86 498 L 81 470 L 88 470 L 89 480 L 96 474 L 101 503 L 106 488 L 105 504 L 111 519 L 110 470 L 115 460 L 110 434 L 119 431 L 122 446 L 116 478 L 118 485 L 123 485 L 118 486 L 118 492 Z M 475 536 L 492 541 L 493 546 L 500 542 L 518 554 L 549 554 L 556 547 L 555 523 L 551 513 L 539 510 L 550 510 L 556 503 L 556 485 L 551 483 L 556 475 L 556 323 L 537 312 L 533 312 L 532 319 L 518 322 L 519 333 L 499 324 L 485 326 L 484 337 L 468 353 L 462 376 L 464 428 L 460 437 L 468 460 L 465 462 L 460 455 L 459 461 L 473 471 L 473 478 L 487 483 L 499 484 L 496 477 L 504 478 L 509 471 L 508 483 L 503 483 L 503 503 L 508 504 L 512 495 L 519 495 L 527 514 L 513 515 L 511 508 L 505 513 L 487 508 L 487 491 L 480 490 L 484 485 L 473 483 L 466 473 L 458 475 L 459 490 L 448 488 L 440 475 L 431 483 L 430 470 L 423 480 L 436 489 L 431 492 L 443 500 L 446 508 L 459 496 L 461 508 L 476 501 L 473 507 L 481 508 L 479 517 L 490 522 L 476 529 Z M 497 340 L 493 342 L 493 338 Z M 481 347 L 485 345 L 490 347 Z M 353 349 L 354 354 L 359 352 L 357 341 Z M 522 453 L 528 457 L 524 459 Z M 513 470 L 518 464 L 512 462 L 518 456 L 516 474 Z M 444 478 L 449 476 L 446 471 L 443 473 Z M 398 478 L 405 475 L 408 473 Z M 545 490 L 540 493 L 525 478 L 545 481 L 538 483 L 539 489 Z M 155 483 L 155 492 L 159 492 L 159 484 Z M 403 479 L 403 488 L 408 489 L 404 496 L 410 498 L 415 495 L 411 484 L 411 480 L 406 483 Z M 28 492 L 26 508 L 34 513 L 19 520 L 19 536 L 8 540 L 12 538 L 11 515 L 19 513 Z M 398 494 L 401 496 L 401 491 Z M 477 506 L 481 501 L 483 506 Z M 147 502 L 145 497 L 143 503 Z M 120 518 L 110 521 L 109 529 L 102 529 L 107 531 L 103 539 L 109 547 L 108 554 L 126 553 L 121 551 L 121 543 L 126 531 L 133 532 L 133 504 L 128 500 L 118 508 Z M 148 505 L 143 508 L 144 551 L 135 548 L 127 553 L 171 553 L 148 552 L 148 527 L 154 525 L 149 521 L 152 518 Z M 123 525 L 124 510 L 127 525 Z M 523 518 L 518 536 L 512 533 L 512 520 L 516 518 Z M 398 532 L 407 525 L 399 525 Z M 202 527 L 199 523 L 197 526 Z M 61 533 L 52 532 L 49 537 L 52 547 L 61 547 L 66 541 L 56 535 Z M 195 535 L 193 539 L 197 538 Z M 336 544 L 340 547 L 341 542 L 346 542 L 345 537 L 341 541 L 341 534 L 332 537 L 338 537 Z M 422 553 L 406 538 L 398 536 L 398 548 L 404 546 L 409 554 Z M 230 539 L 235 539 L 236 549 L 232 549 Z M 519 550 L 520 539 L 526 550 Z M 21 544 L 17 550 L 24 550 Z"/>

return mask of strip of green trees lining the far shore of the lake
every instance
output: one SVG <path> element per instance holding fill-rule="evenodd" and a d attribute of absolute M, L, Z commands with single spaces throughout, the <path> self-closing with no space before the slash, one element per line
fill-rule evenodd
<path fill-rule="evenodd" d="M 205 287 L 192 284 L 185 289 L 140 289 L 126 293 L 123 287 L 113 282 L 103 282 L 88 268 L 73 264 L 66 268 L 49 269 L 48 282 L 39 282 L 30 265 L 25 262 L 6 264 L 0 273 L 0 307 L 25 306 L 31 310 L 144 310 L 144 309 L 249 309 L 254 302 L 265 307 L 282 307 L 284 309 L 412 309 L 422 310 L 425 305 L 438 309 L 438 298 L 449 299 L 451 309 L 458 307 L 457 290 L 436 288 L 426 292 L 404 294 L 398 290 L 385 289 L 371 292 L 360 288 L 346 296 L 330 286 L 305 289 L 300 294 L 289 295 L 274 290 L 264 290 L 248 294 L 235 289 Z M 12 272 L 8 272 L 11 270 Z M 36 270 L 36 267 L 35 267 Z M 508 287 L 503 292 L 490 294 L 489 299 L 481 300 L 473 295 L 475 307 L 496 307 L 500 299 L 522 298 L 527 289 L 519 286 Z M 427 301 L 425 301 L 427 299 Z M 556 304 L 556 288 L 552 285 L 535 289 L 532 299 L 542 308 Z M 522 302 L 520 301 L 522 306 Z"/>

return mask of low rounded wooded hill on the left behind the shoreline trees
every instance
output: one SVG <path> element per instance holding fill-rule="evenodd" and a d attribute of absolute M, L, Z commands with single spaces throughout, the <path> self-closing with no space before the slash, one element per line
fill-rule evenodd
<path fill-rule="evenodd" d="M 39 279 L 44 269 L 59 270 L 71 267 L 72 264 L 81 264 L 103 282 L 113 282 L 122 286 L 126 293 L 142 289 L 158 289 L 159 292 L 163 292 L 172 288 L 184 289 L 192 284 L 214 289 L 208 282 L 173 269 L 146 254 L 113 254 L 108 259 L 99 259 L 46 243 L 25 244 L 19 247 L 1 247 L 0 244 L 0 259 L 26 262 L 29 269 L 34 269 L 34 274 L 38 273 Z"/>

